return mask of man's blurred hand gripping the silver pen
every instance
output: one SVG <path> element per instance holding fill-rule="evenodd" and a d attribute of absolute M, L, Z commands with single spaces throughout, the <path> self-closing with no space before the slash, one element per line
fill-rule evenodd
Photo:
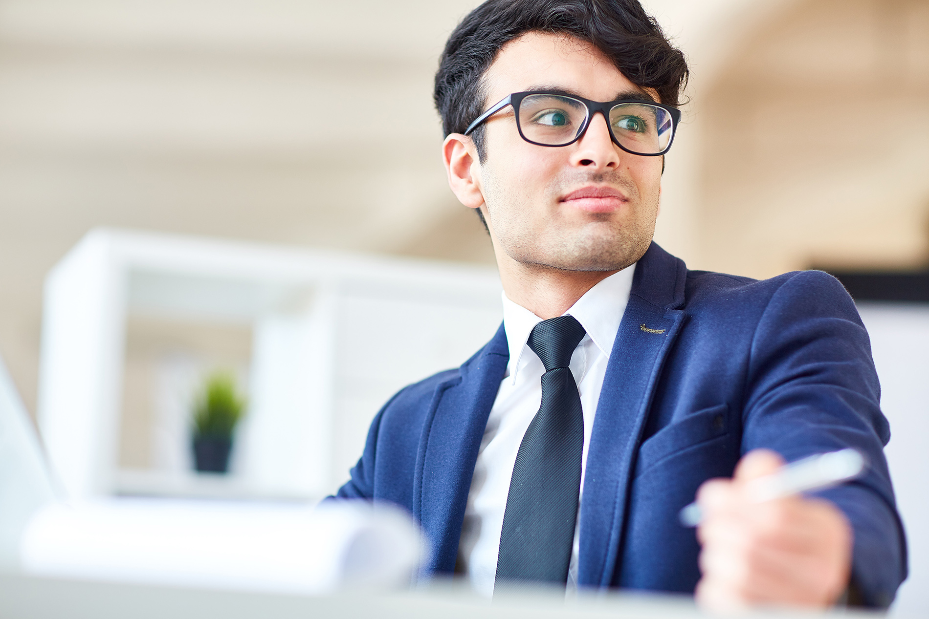
<path fill-rule="evenodd" d="M 852 530 L 842 511 L 803 496 L 759 503 L 747 491 L 751 480 L 783 464 L 776 453 L 758 449 L 739 461 L 731 480 L 700 486 L 700 606 L 826 608 L 847 587 Z"/>

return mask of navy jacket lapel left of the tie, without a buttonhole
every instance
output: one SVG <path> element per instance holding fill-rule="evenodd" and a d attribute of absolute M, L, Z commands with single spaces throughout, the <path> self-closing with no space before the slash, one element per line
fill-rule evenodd
<path fill-rule="evenodd" d="M 413 515 L 432 547 L 423 574 L 454 570 L 480 442 L 508 360 L 501 325 L 459 377 L 436 388 L 413 476 Z"/>

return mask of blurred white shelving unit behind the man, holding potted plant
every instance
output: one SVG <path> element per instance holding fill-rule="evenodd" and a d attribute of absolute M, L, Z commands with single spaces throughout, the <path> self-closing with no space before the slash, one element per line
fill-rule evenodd
<path fill-rule="evenodd" d="M 48 456 L 75 497 L 324 496 L 347 479 L 387 397 L 491 338 L 500 290 L 484 267 L 91 231 L 46 278 L 38 419 Z M 233 474 L 120 469 L 130 316 L 252 329 Z M 183 434 L 178 453 L 189 449 Z"/>

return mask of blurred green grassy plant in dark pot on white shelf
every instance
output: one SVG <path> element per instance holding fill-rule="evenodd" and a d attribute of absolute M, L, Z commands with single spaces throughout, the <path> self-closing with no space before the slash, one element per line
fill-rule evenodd
<path fill-rule="evenodd" d="M 193 458 L 197 471 L 229 471 L 229 452 L 245 399 L 229 372 L 207 377 L 193 411 Z"/>

